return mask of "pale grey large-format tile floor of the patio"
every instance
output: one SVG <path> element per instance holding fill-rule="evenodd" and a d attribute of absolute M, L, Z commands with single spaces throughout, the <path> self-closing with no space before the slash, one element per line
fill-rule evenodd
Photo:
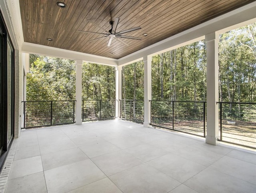
<path fill-rule="evenodd" d="M 6 193 L 255 193 L 256 152 L 102 121 L 22 131 Z"/>

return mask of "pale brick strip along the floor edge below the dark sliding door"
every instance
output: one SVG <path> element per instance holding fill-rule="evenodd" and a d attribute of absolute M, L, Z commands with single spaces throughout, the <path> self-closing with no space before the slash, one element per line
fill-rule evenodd
<path fill-rule="evenodd" d="M 10 150 L 8 152 L 8 155 L 6 157 L 6 160 L 3 165 L 3 169 L 0 174 L 0 193 L 4 192 L 6 189 L 7 181 L 10 175 L 12 162 L 14 161 L 15 152 L 17 149 L 17 144 L 14 144 L 14 141 L 12 143 L 12 146 L 10 147 Z"/>

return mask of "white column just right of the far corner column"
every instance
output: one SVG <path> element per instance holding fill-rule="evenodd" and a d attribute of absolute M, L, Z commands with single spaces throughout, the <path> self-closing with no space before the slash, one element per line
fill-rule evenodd
<path fill-rule="evenodd" d="M 144 62 L 144 127 L 150 127 L 151 62 L 152 56 L 143 57 Z"/>

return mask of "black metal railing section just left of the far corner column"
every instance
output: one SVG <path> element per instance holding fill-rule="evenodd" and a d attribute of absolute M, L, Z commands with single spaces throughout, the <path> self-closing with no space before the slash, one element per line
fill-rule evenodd
<path fill-rule="evenodd" d="M 82 100 L 82 121 L 115 119 L 116 100 Z"/>

